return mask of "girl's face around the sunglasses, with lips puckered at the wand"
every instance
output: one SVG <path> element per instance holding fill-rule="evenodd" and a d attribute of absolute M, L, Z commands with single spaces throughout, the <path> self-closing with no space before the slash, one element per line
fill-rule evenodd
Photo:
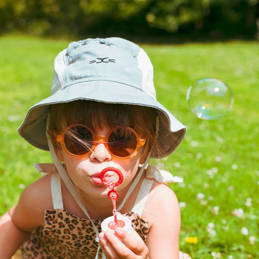
<path fill-rule="evenodd" d="M 111 131 L 109 126 L 103 129 L 95 127 L 94 133 L 98 136 L 106 136 Z M 142 138 L 143 136 L 139 136 Z M 100 142 L 89 155 L 83 157 L 74 157 L 66 153 L 63 149 L 58 152 L 60 160 L 64 161 L 69 174 L 69 177 L 84 193 L 96 197 L 107 197 L 109 189 L 104 186 L 100 179 L 100 173 L 106 167 L 115 167 L 123 174 L 123 182 L 115 189 L 120 191 L 125 188 L 134 178 L 138 171 L 140 156 L 143 150 L 141 146 L 137 153 L 130 158 L 120 159 L 111 155 L 104 143 Z M 116 176 L 112 180 L 116 182 Z"/>

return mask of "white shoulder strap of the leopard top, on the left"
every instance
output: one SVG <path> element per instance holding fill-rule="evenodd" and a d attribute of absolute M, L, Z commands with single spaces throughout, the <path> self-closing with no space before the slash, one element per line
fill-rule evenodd
<path fill-rule="evenodd" d="M 58 173 L 53 173 L 51 177 L 51 193 L 54 209 L 64 209 L 61 191 L 61 178 Z"/>

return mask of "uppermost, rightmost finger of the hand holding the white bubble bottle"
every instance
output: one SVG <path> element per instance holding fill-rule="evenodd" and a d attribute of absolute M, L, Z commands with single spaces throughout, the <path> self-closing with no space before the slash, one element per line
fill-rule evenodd
<path fill-rule="evenodd" d="M 115 235 L 136 255 L 148 256 L 148 248 L 135 230 L 129 235 L 125 229 L 117 227 Z"/>

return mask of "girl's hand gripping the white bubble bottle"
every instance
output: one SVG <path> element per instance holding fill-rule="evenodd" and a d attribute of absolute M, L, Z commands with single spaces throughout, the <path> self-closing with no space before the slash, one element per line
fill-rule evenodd
<path fill-rule="evenodd" d="M 148 259 L 148 248 L 136 231 L 131 235 L 121 227 L 99 234 L 106 259 Z"/>

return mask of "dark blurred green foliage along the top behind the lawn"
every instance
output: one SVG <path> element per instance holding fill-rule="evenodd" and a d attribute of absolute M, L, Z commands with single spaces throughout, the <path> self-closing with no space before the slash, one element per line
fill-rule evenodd
<path fill-rule="evenodd" d="M 0 33 L 258 38 L 259 0 L 0 0 Z"/>

